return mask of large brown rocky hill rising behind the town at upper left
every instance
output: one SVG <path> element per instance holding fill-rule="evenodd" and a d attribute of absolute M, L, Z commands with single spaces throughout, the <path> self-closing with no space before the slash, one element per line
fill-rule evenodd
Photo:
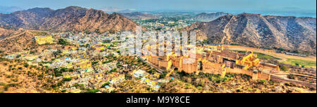
<path fill-rule="evenodd" d="M 70 6 L 63 9 L 32 8 L 0 14 L 0 25 L 44 31 L 122 31 L 135 30 L 137 23 L 118 13 Z"/>

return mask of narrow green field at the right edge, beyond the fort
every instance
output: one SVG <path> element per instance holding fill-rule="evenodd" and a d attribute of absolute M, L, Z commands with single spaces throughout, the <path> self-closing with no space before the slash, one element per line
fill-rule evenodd
<path fill-rule="evenodd" d="M 316 68 L 316 62 L 306 61 L 302 59 L 287 59 L 286 62 L 281 62 L 284 64 L 292 64 L 294 66 L 304 66 L 304 67 L 313 67 Z"/>

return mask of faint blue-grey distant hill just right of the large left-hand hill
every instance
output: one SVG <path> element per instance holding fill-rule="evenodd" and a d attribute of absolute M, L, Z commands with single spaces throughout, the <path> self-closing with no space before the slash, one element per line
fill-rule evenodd
<path fill-rule="evenodd" d="M 139 13 L 139 12 L 135 12 L 135 13 L 119 13 L 120 15 L 123 15 L 125 17 L 128 17 L 129 19 L 158 19 L 161 18 L 157 15 L 151 15 L 148 13 Z"/>

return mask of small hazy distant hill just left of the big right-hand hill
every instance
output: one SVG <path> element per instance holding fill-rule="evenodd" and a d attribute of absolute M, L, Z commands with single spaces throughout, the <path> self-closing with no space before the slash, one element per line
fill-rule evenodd
<path fill-rule="evenodd" d="M 212 20 L 216 20 L 216 18 L 223 16 L 223 15 L 229 15 L 229 13 L 199 13 L 198 15 L 195 15 L 192 17 L 194 20 L 200 20 L 202 22 L 210 22 Z"/>

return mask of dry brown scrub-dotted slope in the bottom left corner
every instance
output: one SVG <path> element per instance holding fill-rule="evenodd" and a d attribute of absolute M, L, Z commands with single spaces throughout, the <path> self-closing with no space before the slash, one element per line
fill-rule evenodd
<path fill-rule="evenodd" d="M 26 66 L 27 62 L 0 58 L 0 92 L 1 93 L 51 93 L 47 90 L 48 74 L 37 66 Z"/>

